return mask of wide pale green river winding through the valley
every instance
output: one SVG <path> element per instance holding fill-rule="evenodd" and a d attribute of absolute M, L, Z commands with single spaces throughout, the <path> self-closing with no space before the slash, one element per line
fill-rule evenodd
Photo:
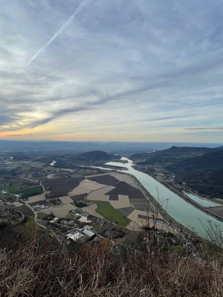
<path fill-rule="evenodd" d="M 207 233 L 202 225 L 208 226 L 208 221 L 211 221 L 212 224 L 217 224 L 223 233 L 223 222 L 217 220 L 216 218 L 206 214 L 200 209 L 194 207 L 192 204 L 186 202 L 183 198 L 179 197 L 164 185 L 159 183 L 153 177 L 148 174 L 138 171 L 132 167 L 134 164 L 133 161 L 122 157 L 121 160 L 126 160 L 128 163 L 121 162 L 108 162 L 105 165 L 125 167 L 127 170 L 124 170 L 125 173 L 134 175 L 137 180 L 144 186 L 144 188 L 158 201 L 158 193 L 160 197 L 160 204 L 163 203 L 165 208 L 167 205 L 167 213 L 181 225 L 187 227 L 188 229 L 196 232 L 199 236 L 207 238 Z M 103 168 L 103 167 L 101 167 Z M 104 168 L 103 168 L 104 169 Z M 123 170 L 117 170 L 122 171 Z M 201 223 L 202 222 L 202 223 Z"/>

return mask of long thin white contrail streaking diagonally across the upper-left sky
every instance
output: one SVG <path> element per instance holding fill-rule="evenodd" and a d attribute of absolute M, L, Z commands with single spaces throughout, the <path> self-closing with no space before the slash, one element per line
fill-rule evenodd
<path fill-rule="evenodd" d="M 89 0 L 84 0 L 74 11 L 74 13 L 68 18 L 68 20 L 65 22 L 65 24 L 62 25 L 62 27 L 55 33 L 55 35 L 41 48 L 39 49 L 34 56 L 26 63 L 26 65 L 19 70 L 19 72 L 15 75 L 17 76 L 21 71 L 23 71 L 27 66 L 29 66 L 32 61 L 34 61 L 38 55 L 45 50 L 46 48 L 49 47 L 49 45 L 56 39 L 56 37 L 62 33 L 62 31 L 72 22 L 72 20 L 75 18 L 75 16 L 84 8 L 84 6 L 87 4 Z"/>

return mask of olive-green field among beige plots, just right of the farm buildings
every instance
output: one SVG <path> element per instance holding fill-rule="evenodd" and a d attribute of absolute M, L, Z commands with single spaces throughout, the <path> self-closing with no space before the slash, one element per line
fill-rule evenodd
<path fill-rule="evenodd" d="M 125 218 L 123 214 L 115 209 L 110 202 L 108 201 L 98 201 L 98 200 L 91 200 L 91 202 L 98 205 L 96 212 L 101 214 L 106 220 L 118 223 L 119 225 L 125 227 L 130 223 L 128 218 Z"/>

